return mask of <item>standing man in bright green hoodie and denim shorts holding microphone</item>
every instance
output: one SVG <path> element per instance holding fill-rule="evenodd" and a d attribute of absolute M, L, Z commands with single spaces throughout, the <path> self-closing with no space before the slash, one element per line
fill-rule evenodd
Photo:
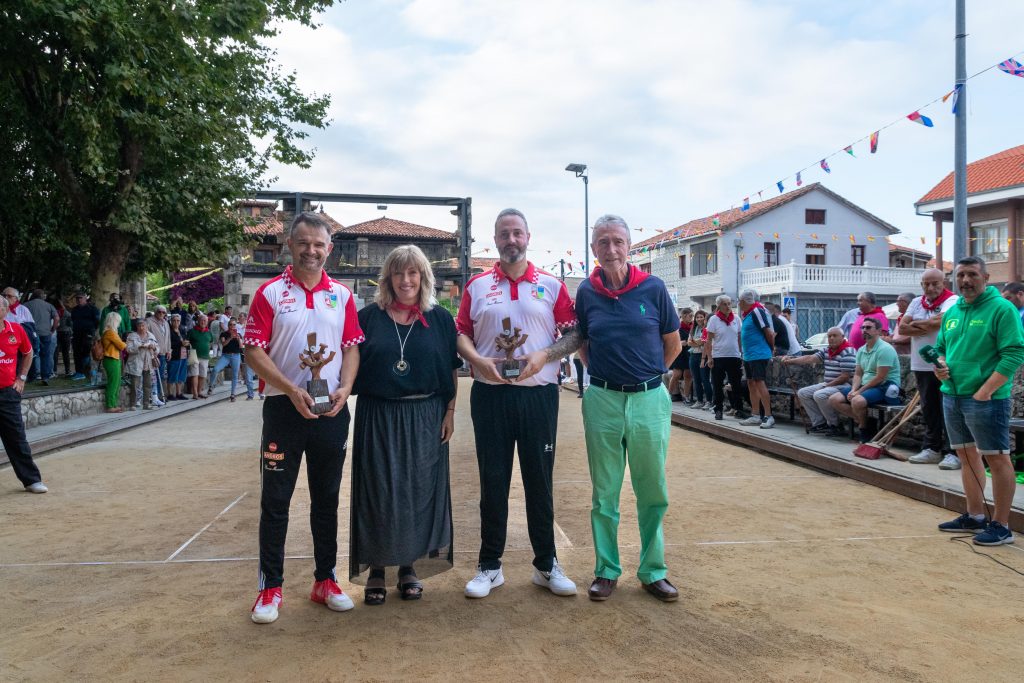
<path fill-rule="evenodd" d="M 985 262 L 969 256 L 956 262 L 961 300 L 942 316 L 935 343 L 942 380 L 942 413 L 949 445 L 963 468 L 967 512 L 939 524 L 942 531 L 975 532 L 975 544 L 1013 543 L 1010 506 L 1017 479 L 1010 460 L 1013 377 L 1024 362 L 1024 333 L 1017 307 L 988 286 Z M 995 510 L 985 507 L 985 462 L 992 473 Z"/>

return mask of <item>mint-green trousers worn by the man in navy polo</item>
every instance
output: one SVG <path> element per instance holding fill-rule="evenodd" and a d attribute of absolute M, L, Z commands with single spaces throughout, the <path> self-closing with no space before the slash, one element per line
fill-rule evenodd
<path fill-rule="evenodd" d="M 665 535 L 662 519 L 669 507 L 665 456 L 672 429 L 672 398 L 662 386 L 623 393 L 591 386 L 583 396 L 587 460 L 594 494 L 590 524 L 597 556 L 594 574 L 618 579 L 618 498 L 626 465 L 637 499 L 640 523 L 640 567 L 644 584 L 665 579 Z"/>

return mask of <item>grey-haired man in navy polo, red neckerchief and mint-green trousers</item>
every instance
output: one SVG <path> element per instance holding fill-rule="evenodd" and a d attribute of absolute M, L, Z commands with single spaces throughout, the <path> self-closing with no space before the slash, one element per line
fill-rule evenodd
<path fill-rule="evenodd" d="M 591 243 L 600 267 L 577 293 L 579 335 L 590 370 L 583 397 L 587 459 L 593 483 L 590 513 L 596 555 L 592 600 L 606 600 L 623 572 L 618 561 L 618 498 L 626 465 L 637 499 L 644 589 L 671 602 L 662 519 L 669 507 L 665 457 L 672 399 L 662 374 L 679 355 L 679 317 L 657 278 L 629 262 L 630 228 L 601 216 Z"/>

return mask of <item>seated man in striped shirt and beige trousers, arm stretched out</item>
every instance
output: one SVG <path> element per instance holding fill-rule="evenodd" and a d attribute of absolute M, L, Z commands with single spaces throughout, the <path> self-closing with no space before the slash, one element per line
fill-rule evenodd
<path fill-rule="evenodd" d="M 850 381 L 857 366 L 857 352 L 853 350 L 853 344 L 843 336 L 841 329 L 831 328 L 827 336 L 827 348 L 818 349 L 809 355 L 784 357 L 782 365 L 808 366 L 819 360 L 824 365 L 825 381 L 800 389 L 797 397 L 811 421 L 812 434 L 838 436 L 843 430 L 839 426 L 839 414 L 828 399 L 841 389 L 850 389 Z"/>

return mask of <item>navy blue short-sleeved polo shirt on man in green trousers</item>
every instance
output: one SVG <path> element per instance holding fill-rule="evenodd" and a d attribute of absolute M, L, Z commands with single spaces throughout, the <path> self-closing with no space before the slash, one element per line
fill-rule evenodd
<path fill-rule="evenodd" d="M 580 285 L 577 318 L 581 335 L 590 342 L 588 371 L 596 378 L 638 384 L 665 372 L 662 335 L 679 333 L 679 316 L 665 283 L 644 275 L 631 265 L 628 285 L 612 296 L 595 287 L 600 269 Z"/>

